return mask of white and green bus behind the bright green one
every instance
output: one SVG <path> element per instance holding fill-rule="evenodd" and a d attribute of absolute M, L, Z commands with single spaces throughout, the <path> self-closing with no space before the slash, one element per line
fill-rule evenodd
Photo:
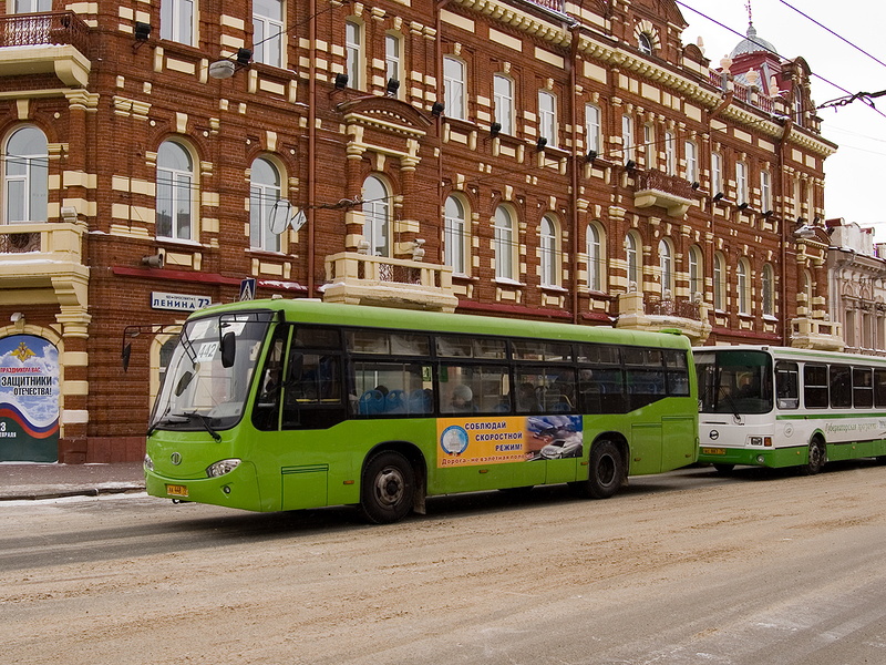
<path fill-rule="evenodd" d="M 696 349 L 700 462 L 799 467 L 886 456 L 886 358 L 779 347 Z"/>

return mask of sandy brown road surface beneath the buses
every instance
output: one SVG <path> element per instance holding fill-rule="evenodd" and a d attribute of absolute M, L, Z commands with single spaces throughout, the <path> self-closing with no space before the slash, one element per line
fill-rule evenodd
<path fill-rule="evenodd" d="M 886 467 L 259 515 L 0 505 L 0 663 L 886 663 Z"/>

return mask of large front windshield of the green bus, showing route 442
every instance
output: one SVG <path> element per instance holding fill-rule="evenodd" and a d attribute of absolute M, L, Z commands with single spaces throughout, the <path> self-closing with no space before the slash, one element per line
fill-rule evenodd
<path fill-rule="evenodd" d="M 234 427 L 245 410 L 270 311 L 206 316 L 185 324 L 154 405 L 148 436 L 157 429 Z"/>

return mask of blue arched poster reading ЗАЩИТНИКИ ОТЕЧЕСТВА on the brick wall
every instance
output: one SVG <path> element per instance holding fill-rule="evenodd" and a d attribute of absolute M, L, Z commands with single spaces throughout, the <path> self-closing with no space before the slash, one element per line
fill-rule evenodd
<path fill-rule="evenodd" d="M 59 350 L 33 335 L 0 339 L 0 461 L 59 459 Z"/>

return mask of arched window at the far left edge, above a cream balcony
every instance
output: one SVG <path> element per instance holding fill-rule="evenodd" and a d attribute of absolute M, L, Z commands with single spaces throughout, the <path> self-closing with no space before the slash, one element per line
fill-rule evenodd
<path fill-rule="evenodd" d="M 3 149 L 3 219 L 45 222 L 49 201 L 47 136 L 34 126 L 16 130 Z"/>

